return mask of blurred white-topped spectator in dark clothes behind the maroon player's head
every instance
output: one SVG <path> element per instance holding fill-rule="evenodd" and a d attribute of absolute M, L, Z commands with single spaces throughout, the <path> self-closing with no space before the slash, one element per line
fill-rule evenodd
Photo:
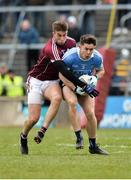
<path fill-rule="evenodd" d="M 69 25 L 68 36 L 74 38 L 76 40 L 76 42 L 79 42 L 81 32 L 80 32 L 80 29 L 77 26 L 76 17 L 75 16 L 69 16 L 67 18 L 67 23 Z"/>

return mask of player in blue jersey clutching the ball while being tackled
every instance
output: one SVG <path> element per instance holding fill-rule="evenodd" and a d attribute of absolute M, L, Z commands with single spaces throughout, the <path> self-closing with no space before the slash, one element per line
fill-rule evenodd
<path fill-rule="evenodd" d="M 80 80 L 85 81 L 91 88 L 95 88 L 97 80 L 104 75 L 102 55 L 95 50 L 96 38 L 92 35 L 83 35 L 80 38 L 79 47 L 74 47 L 63 56 L 63 61 Z M 97 120 L 95 116 L 95 97 L 85 93 L 82 88 L 67 83 L 65 77 L 60 74 L 63 81 L 63 96 L 69 106 L 69 115 L 72 119 L 78 119 L 77 104 L 79 103 L 87 117 L 87 132 L 89 137 L 89 152 L 91 154 L 108 155 L 96 143 Z M 75 90 L 75 91 L 74 91 Z M 72 121 L 72 120 L 71 120 Z M 80 139 L 83 143 L 83 139 Z"/>

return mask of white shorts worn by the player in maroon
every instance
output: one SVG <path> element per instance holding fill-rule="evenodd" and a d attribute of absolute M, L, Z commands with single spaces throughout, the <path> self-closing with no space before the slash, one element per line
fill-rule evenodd
<path fill-rule="evenodd" d="M 42 104 L 43 93 L 47 87 L 52 84 L 58 84 L 58 80 L 41 81 L 33 77 L 29 77 L 26 82 L 27 87 L 27 103 L 28 104 Z"/>

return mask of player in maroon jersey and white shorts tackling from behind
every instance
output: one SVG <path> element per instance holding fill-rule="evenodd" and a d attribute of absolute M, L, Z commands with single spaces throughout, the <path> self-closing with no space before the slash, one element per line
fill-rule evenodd
<path fill-rule="evenodd" d="M 54 22 L 52 31 L 52 37 L 42 49 L 37 64 L 29 72 L 27 79 L 29 116 L 20 135 L 20 151 L 22 154 L 28 154 L 27 136 L 39 120 L 42 98 L 48 99 L 50 106 L 46 113 L 43 127 L 35 137 L 37 143 L 41 142 L 45 131 L 58 112 L 62 100 L 58 71 L 52 62 L 61 60 L 68 49 L 76 46 L 75 40 L 67 36 L 68 25 L 65 22 Z M 80 127 L 76 127 L 74 130 L 76 137 L 80 138 Z"/>

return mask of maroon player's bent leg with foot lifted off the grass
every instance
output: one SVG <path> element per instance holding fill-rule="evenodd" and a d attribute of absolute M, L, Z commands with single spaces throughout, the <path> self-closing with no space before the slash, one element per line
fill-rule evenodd
<path fill-rule="evenodd" d="M 52 120 L 58 112 L 60 103 L 62 101 L 62 92 L 59 84 L 50 84 L 44 91 L 44 97 L 50 101 L 50 105 L 46 113 L 44 123 L 34 138 L 37 144 L 39 144 L 42 141 L 42 138 L 44 137 L 46 130 L 48 129 L 50 123 L 52 122 Z"/>

